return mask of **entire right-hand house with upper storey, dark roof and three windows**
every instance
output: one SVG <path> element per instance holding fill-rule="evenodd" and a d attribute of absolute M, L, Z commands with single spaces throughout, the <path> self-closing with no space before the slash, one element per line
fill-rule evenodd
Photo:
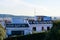
<path fill-rule="evenodd" d="M 52 28 L 53 22 L 51 17 L 35 16 L 33 19 L 28 19 L 30 33 L 45 32 Z"/>

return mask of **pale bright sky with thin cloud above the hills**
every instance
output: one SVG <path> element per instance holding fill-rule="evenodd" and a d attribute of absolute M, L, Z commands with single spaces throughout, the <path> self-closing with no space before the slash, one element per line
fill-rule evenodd
<path fill-rule="evenodd" d="M 0 0 L 0 14 L 60 16 L 60 0 Z"/>

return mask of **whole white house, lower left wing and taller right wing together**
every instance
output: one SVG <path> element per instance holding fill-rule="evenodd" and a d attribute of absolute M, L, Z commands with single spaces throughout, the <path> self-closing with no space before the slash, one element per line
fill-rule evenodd
<path fill-rule="evenodd" d="M 15 21 L 19 20 L 20 19 L 16 19 Z M 20 21 L 22 21 L 22 19 Z M 13 35 L 27 35 L 38 32 L 45 32 L 50 30 L 52 26 L 53 22 L 51 20 L 51 17 L 45 16 L 25 18 L 23 19 L 23 23 L 14 22 L 5 24 L 7 37 Z"/>

